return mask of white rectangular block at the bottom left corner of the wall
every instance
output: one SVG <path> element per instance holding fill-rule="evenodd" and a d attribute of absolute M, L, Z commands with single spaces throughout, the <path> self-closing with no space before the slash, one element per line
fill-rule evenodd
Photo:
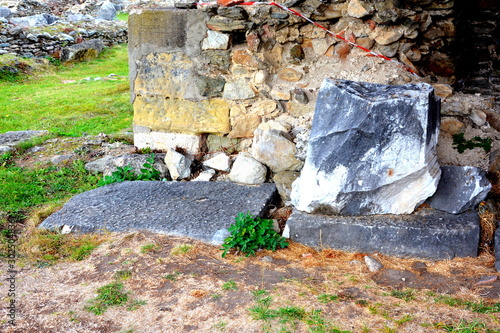
<path fill-rule="evenodd" d="M 134 145 L 151 149 L 184 149 L 187 153 L 195 155 L 200 153 L 201 137 L 198 135 L 154 132 L 149 127 L 134 126 Z"/>

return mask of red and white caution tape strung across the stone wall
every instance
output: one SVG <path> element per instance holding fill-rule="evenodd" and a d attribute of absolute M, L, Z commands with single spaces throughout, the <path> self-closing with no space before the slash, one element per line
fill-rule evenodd
<path fill-rule="evenodd" d="M 196 5 L 198 6 L 201 6 L 201 5 L 214 5 L 216 3 L 207 3 L 207 2 L 198 2 L 196 3 Z M 289 13 L 292 13 L 293 15 L 296 15 L 298 17 L 301 17 L 303 18 L 304 20 L 306 20 L 307 22 L 309 23 L 312 23 L 314 24 L 315 26 L 317 26 L 318 28 L 326 31 L 328 34 L 334 36 L 335 38 L 338 38 L 346 43 L 348 43 L 349 45 L 351 46 L 354 46 L 354 47 L 357 47 L 358 49 L 361 49 L 363 51 L 365 51 L 367 54 L 371 55 L 371 56 L 374 56 L 374 57 L 378 57 L 378 58 L 382 58 L 384 60 L 387 60 L 387 61 L 390 61 L 390 62 L 393 62 L 393 63 L 396 63 L 397 65 L 403 67 L 404 69 L 406 69 L 407 71 L 409 71 L 410 73 L 414 74 L 414 75 L 418 75 L 415 71 L 413 71 L 410 67 L 408 67 L 407 65 L 397 61 L 397 60 L 394 60 L 394 59 L 391 59 L 389 57 L 386 57 L 384 56 L 383 54 L 380 54 L 380 53 L 376 53 L 376 52 L 373 52 L 369 49 L 367 49 L 366 47 L 363 47 L 361 45 L 358 45 L 350 40 L 348 40 L 347 38 L 339 35 L 339 34 L 336 34 L 334 33 L 333 31 L 325 28 L 324 26 L 322 26 L 321 24 L 317 23 L 317 22 L 314 22 L 313 20 L 311 20 L 310 18 L 308 18 L 307 16 L 305 16 L 304 14 L 296 11 L 296 10 L 293 10 L 291 8 L 288 8 L 288 7 L 285 7 L 279 3 L 276 3 L 276 2 L 259 2 L 259 1 L 251 1 L 251 2 L 242 2 L 242 0 L 218 0 L 218 4 L 221 4 L 223 6 L 234 6 L 234 5 L 240 5 L 240 6 L 252 6 L 252 5 L 269 5 L 269 6 L 275 6 L 275 7 L 278 7 L 278 8 L 281 8 L 282 10 L 284 11 L 287 11 Z"/>

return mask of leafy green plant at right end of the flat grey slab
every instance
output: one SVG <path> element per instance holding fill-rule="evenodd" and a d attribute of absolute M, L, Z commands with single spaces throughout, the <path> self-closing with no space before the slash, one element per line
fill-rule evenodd
<path fill-rule="evenodd" d="M 234 224 L 229 227 L 231 234 L 224 240 L 222 257 L 235 250 L 248 256 L 259 249 L 276 251 L 285 248 L 288 242 L 273 229 L 273 221 L 254 217 L 250 213 L 239 213 Z"/>

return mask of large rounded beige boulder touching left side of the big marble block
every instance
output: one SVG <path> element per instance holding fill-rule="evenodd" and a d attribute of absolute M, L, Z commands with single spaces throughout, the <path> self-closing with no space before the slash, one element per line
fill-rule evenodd
<path fill-rule="evenodd" d="M 257 129 L 254 133 L 252 156 L 273 172 L 298 171 L 302 161 L 295 157 L 295 144 L 276 130 Z"/>

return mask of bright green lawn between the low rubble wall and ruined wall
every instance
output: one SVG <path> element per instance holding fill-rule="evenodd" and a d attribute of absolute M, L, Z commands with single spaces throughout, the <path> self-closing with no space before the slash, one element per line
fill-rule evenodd
<path fill-rule="evenodd" d="M 118 75 L 116 81 L 94 81 L 109 74 Z M 133 111 L 127 76 L 127 47 L 119 45 L 89 62 L 59 66 L 23 82 L 0 82 L 0 133 L 44 129 L 81 136 L 129 129 Z"/>

